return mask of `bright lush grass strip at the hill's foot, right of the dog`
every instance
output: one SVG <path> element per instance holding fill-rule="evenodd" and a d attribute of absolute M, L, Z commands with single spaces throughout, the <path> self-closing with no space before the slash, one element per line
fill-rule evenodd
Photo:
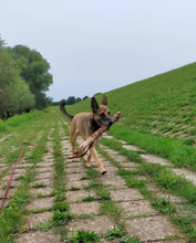
<path fill-rule="evenodd" d="M 162 156 L 174 163 L 175 167 L 186 167 L 196 171 L 196 148 L 172 138 L 143 134 L 131 130 L 128 127 L 115 125 L 112 135 L 128 144 L 134 144 L 149 154 Z M 109 139 L 107 139 L 109 140 Z M 103 141 L 109 144 L 110 141 Z"/>

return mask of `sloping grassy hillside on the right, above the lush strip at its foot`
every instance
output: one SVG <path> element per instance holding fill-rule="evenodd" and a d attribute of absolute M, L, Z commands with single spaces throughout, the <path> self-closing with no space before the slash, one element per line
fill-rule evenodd
<path fill-rule="evenodd" d="M 111 112 L 122 112 L 124 126 L 196 144 L 196 63 L 105 94 Z M 90 110 L 89 99 L 70 107 L 82 110 Z"/>

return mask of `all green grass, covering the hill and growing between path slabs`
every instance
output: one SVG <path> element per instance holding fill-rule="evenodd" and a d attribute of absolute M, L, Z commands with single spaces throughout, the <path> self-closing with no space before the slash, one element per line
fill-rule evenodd
<path fill-rule="evenodd" d="M 99 152 L 117 168 L 116 175 L 125 180 L 127 188 L 137 189 L 153 208 L 161 214 L 167 215 L 171 222 L 185 233 L 187 242 L 196 240 L 196 188 L 184 177 L 176 176 L 172 171 L 172 167 L 196 171 L 195 91 L 196 63 L 193 63 L 106 93 L 112 115 L 121 110 L 122 118 L 109 131 L 113 139 L 103 138 L 101 144 L 116 150 L 128 161 L 138 165 L 137 169 L 123 169 L 120 161 L 99 148 Z M 101 102 L 102 95 L 96 96 L 96 99 Z M 71 115 L 79 112 L 90 112 L 90 99 L 69 106 L 68 110 Z M 12 117 L 7 122 L 0 120 L 1 190 L 6 188 L 4 177 L 20 154 L 21 142 L 29 141 L 38 145 L 31 154 L 28 154 L 28 148 L 24 150 L 24 158 L 31 166 L 27 168 L 25 175 L 18 177 L 20 186 L 17 186 L 9 204 L 1 212 L 0 242 L 14 242 L 14 237 L 19 237 L 27 231 L 24 225 L 31 213 L 41 212 L 52 212 L 52 221 L 41 224 L 38 229 L 42 231 L 53 229 L 56 234 L 61 234 L 61 239 L 66 239 L 64 225 L 75 218 L 71 214 L 70 205 L 64 196 L 68 188 L 62 183 L 65 180 L 65 171 L 61 157 L 54 156 L 53 191 L 50 194 L 53 198 L 53 207 L 34 211 L 27 210 L 28 203 L 32 200 L 30 189 L 32 189 L 32 182 L 38 176 L 37 167 L 45 155 L 44 146 L 51 141 L 52 148 L 62 152 L 61 142 L 64 139 L 61 135 L 62 120 L 59 107 L 50 107 L 44 112 L 34 110 L 30 114 Z M 69 136 L 68 129 L 63 133 L 66 137 Z M 126 150 L 120 140 L 124 140 L 128 145 L 136 145 L 146 154 L 166 158 L 172 162 L 172 167 L 146 163 L 141 157 L 141 151 Z M 146 177 L 147 181 L 137 177 Z M 123 223 L 117 224 L 122 211 L 112 201 L 110 188 L 105 188 L 100 181 L 100 175 L 94 169 L 90 169 L 83 178 L 83 180 L 86 179 L 91 182 L 84 189 L 93 189 L 96 197 L 86 197 L 83 202 L 99 201 L 102 203 L 100 213 L 112 218 L 120 228 L 120 231 L 116 231 L 121 232 L 121 237 L 127 239 L 127 241 L 121 240 L 121 242 L 140 242 L 138 239 L 131 239 L 125 234 Z M 172 197 L 179 197 L 183 201 L 179 203 L 180 210 L 178 209 L 179 204 L 173 204 L 169 200 L 155 197 L 147 188 L 147 183 L 156 184 L 159 191 L 169 193 Z M 44 183 L 33 186 L 34 189 L 45 187 Z M 14 187 L 12 189 L 14 190 Z M 69 190 L 78 191 L 79 188 L 73 187 Z M 39 193 L 38 198 L 44 198 L 44 196 Z M 84 216 L 87 219 L 87 215 Z M 92 216 L 89 215 L 89 218 Z M 107 232 L 110 237 L 114 234 L 117 233 Z M 80 237 L 91 236 L 95 239 L 92 242 L 97 241 L 97 235 L 94 235 L 93 232 L 79 231 L 74 235 L 75 240 L 71 239 L 70 242 L 80 242 Z"/>

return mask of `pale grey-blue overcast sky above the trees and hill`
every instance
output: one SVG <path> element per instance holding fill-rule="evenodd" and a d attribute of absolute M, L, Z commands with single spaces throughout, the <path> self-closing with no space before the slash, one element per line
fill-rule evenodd
<path fill-rule="evenodd" d="M 53 101 L 196 62 L 195 0 L 0 0 L 0 34 L 50 63 Z"/>

